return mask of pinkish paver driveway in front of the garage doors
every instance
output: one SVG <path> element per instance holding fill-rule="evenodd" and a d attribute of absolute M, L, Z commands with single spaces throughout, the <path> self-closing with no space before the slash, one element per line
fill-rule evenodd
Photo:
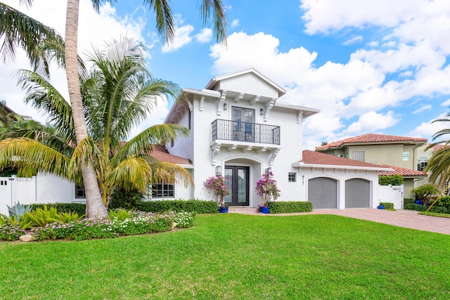
<path fill-rule="evenodd" d="M 258 213 L 259 214 L 259 213 Z M 349 218 L 385 223 L 394 226 L 444 233 L 450 235 L 450 219 L 436 216 L 423 216 L 418 211 L 400 209 L 387 211 L 384 209 L 314 209 L 312 212 L 301 214 L 335 214 Z M 269 216 L 289 216 L 293 214 L 272 214 Z"/>

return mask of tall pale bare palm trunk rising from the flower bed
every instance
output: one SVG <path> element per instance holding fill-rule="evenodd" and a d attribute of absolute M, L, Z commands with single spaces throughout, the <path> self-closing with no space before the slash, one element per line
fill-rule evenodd
<path fill-rule="evenodd" d="M 77 144 L 88 137 L 86 120 L 84 119 L 82 95 L 79 87 L 77 39 L 78 39 L 79 0 L 68 0 L 65 19 L 65 72 L 68 77 L 70 105 L 75 127 Z M 108 210 L 98 189 L 96 171 L 91 164 L 82 167 L 84 189 L 86 190 L 86 217 L 105 217 Z"/>

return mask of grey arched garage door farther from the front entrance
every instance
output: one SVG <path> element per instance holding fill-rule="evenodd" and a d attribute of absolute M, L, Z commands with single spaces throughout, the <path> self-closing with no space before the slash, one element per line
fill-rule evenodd
<path fill-rule="evenodd" d="M 345 181 L 345 208 L 370 207 L 371 183 L 361 179 Z"/>

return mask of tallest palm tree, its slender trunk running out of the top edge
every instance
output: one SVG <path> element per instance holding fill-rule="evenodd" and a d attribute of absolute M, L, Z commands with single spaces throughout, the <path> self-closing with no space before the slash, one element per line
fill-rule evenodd
<path fill-rule="evenodd" d="M 96 11 L 100 8 L 101 4 L 105 2 L 114 2 L 114 0 L 91 0 Z M 22 0 L 27 5 L 31 5 L 33 0 Z M 156 15 L 156 29 L 160 36 L 167 42 L 174 37 L 174 21 L 172 15 L 172 8 L 170 7 L 169 1 L 167 0 L 143 0 L 143 3 L 153 9 Z M 0 3 L 0 8 L 5 11 L 6 5 Z M 214 22 L 214 34 L 217 41 L 221 41 L 226 44 L 226 15 L 224 13 L 224 6 L 221 0 L 203 0 L 200 7 L 201 15 L 204 23 L 206 24 L 211 17 Z M 6 14 L 11 13 L 11 11 L 6 11 Z M 89 137 L 86 127 L 86 122 L 84 119 L 83 103 L 81 98 L 81 92 L 79 91 L 79 78 L 78 78 L 78 63 L 77 63 L 77 34 L 78 34 L 78 14 L 79 14 L 79 0 L 68 0 L 68 6 L 66 11 L 66 24 L 65 24 L 65 71 L 68 79 L 68 90 L 69 99 L 72 106 L 72 118 L 75 129 L 76 143 L 80 145 L 82 143 L 87 143 L 86 139 Z M 2 15 L 2 18 L 5 18 Z M 29 21 L 31 18 L 26 15 L 18 15 L 16 18 L 18 20 Z M 9 19 L 8 19 L 9 20 Z M 8 22 L 6 25 L 0 26 L 0 37 L 5 35 L 5 32 L 18 31 L 18 27 L 23 23 Z M 7 27 L 11 26 L 12 29 Z M 44 28 L 39 27 L 39 29 Z M 45 27 L 44 29 L 47 29 Z M 45 34 L 47 31 L 42 30 Z M 44 34 L 44 36 L 45 36 Z M 23 48 L 38 48 L 39 43 L 35 43 L 33 37 L 41 37 L 39 31 L 36 30 L 25 30 L 23 33 L 24 37 L 31 37 L 26 39 L 25 42 L 20 44 Z M 14 37 L 18 39 L 18 37 Z M 12 39 L 15 41 L 15 39 Z M 38 39 L 39 40 L 39 39 Z M 10 43 L 11 44 L 11 43 Z M 5 53 L 8 49 L 0 48 L 1 53 Z M 31 52 L 30 59 L 34 59 L 37 53 Z M 96 211 L 96 215 L 99 217 L 107 216 L 108 211 L 103 209 L 101 202 L 100 191 L 98 190 L 98 185 L 95 183 L 95 170 L 89 164 L 83 164 L 82 174 L 84 181 L 84 188 L 86 190 L 86 207 L 89 211 Z"/>

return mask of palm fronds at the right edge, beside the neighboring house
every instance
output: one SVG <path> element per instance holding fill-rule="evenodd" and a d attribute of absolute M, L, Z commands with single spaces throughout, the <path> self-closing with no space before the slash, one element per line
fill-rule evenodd
<path fill-rule="evenodd" d="M 436 119 L 434 122 L 450 122 L 450 113 L 446 115 L 446 119 Z M 442 129 L 437 131 L 433 135 L 433 140 L 445 136 L 450 133 L 450 129 Z M 450 181 L 450 140 L 440 140 L 435 143 L 428 145 L 425 150 L 435 147 L 435 145 L 444 144 L 444 147 L 439 148 L 435 151 L 432 157 L 428 160 L 427 167 L 425 167 L 424 172 L 430 172 L 429 181 L 430 183 L 438 183 L 439 186 L 444 186 L 447 181 Z"/>

